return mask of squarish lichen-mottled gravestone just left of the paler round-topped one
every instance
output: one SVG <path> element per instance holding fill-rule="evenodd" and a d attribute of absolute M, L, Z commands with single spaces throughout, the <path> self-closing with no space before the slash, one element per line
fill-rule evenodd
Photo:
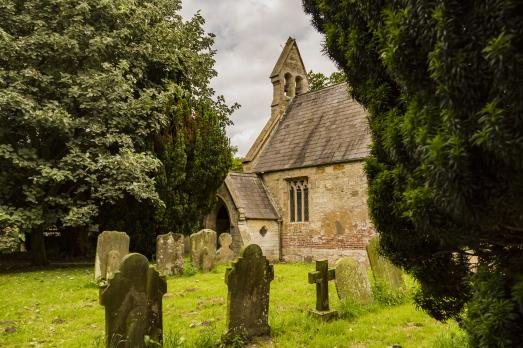
<path fill-rule="evenodd" d="M 183 234 L 167 233 L 156 237 L 156 263 L 162 275 L 183 273 Z"/>

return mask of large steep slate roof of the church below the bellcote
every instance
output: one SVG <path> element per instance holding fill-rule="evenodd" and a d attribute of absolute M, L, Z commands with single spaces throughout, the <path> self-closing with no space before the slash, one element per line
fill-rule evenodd
<path fill-rule="evenodd" d="M 349 162 L 370 153 L 367 112 L 339 84 L 296 96 L 253 163 L 256 173 Z"/>

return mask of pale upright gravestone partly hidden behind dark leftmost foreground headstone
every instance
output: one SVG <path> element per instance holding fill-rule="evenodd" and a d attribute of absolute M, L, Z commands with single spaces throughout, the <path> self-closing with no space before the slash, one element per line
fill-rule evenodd
<path fill-rule="evenodd" d="M 125 232 L 104 231 L 98 236 L 94 278 L 108 279 L 120 266 L 120 261 L 129 254 L 129 236 Z M 108 269 L 109 265 L 109 269 Z"/>

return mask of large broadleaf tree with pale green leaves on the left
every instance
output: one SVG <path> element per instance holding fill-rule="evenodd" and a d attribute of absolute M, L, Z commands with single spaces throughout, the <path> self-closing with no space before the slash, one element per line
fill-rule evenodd
<path fill-rule="evenodd" d="M 173 100 L 225 107 L 208 87 L 213 38 L 200 15 L 183 22 L 180 8 L 0 3 L 0 223 L 30 232 L 34 263 L 47 262 L 50 226 L 100 222 L 122 203 L 164 209 L 153 139 L 181 113 Z"/>

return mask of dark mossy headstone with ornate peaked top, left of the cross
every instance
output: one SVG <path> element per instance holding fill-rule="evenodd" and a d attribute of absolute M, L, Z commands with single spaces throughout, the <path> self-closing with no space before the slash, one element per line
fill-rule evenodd
<path fill-rule="evenodd" d="M 270 333 L 269 292 L 273 279 L 273 266 L 256 244 L 245 247 L 232 267 L 227 268 L 226 340 L 235 336 L 250 338 Z"/>

